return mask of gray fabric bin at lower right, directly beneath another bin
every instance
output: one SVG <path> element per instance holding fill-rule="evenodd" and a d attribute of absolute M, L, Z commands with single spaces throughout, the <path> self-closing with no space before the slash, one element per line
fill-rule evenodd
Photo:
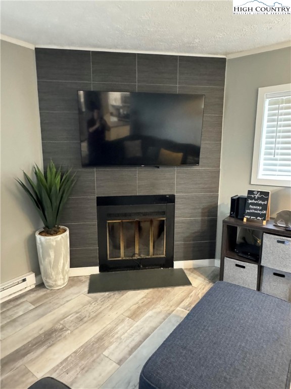
<path fill-rule="evenodd" d="M 291 274 L 264 266 L 260 291 L 282 300 L 291 301 Z"/>

